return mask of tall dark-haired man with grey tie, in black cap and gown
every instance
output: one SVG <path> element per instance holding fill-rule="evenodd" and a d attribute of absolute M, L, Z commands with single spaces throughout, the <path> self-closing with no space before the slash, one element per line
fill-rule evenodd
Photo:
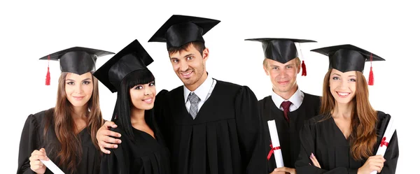
<path fill-rule="evenodd" d="M 219 22 L 173 15 L 149 41 L 167 43 L 184 84 L 157 99 L 172 171 L 265 173 L 258 99 L 248 87 L 211 78 L 206 70 L 209 48 L 202 36 Z"/>

